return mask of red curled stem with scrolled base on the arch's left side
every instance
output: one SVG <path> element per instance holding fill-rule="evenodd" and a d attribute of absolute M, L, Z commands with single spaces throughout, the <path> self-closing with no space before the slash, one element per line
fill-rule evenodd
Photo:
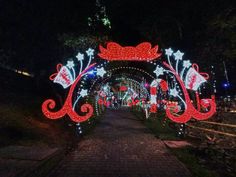
<path fill-rule="evenodd" d="M 83 72 L 81 72 L 81 74 L 78 75 L 78 77 L 75 79 L 75 81 L 73 82 L 73 84 L 70 87 L 68 96 L 66 98 L 66 101 L 65 101 L 63 107 L 59 111 L 52 112 L 50 110 L 50 109 L 54 109 L 56 107 L 56 103 L 52 99 L 48 99 L 42 104 L 43 114 L 47 118 L 49 118 L 49 119 L 60 119 L 60 118 L 62 118 L 63 116 L 65 116 L 67 114 L 71 118 L 71 120 L 73 120 L 74 122 L 83 122 L 83 121 L 86 121 L 87 119 L 89 119 L 93 115 L 93 107 L 92 107 L 92 105 L 87 104 L 87 103 L 83 104 L 81 106 L 81 112 L 86 113 L 86 114 L 84 116 L 78 115 L 73 110 L 72 95 L 73 95 L 73 92 L 75 90 L 75 87 L 76 87 L 77 83 L 80 81 L 83 74 L 85 74 L 95 64 L 96 63 L 90 65 Z"/>

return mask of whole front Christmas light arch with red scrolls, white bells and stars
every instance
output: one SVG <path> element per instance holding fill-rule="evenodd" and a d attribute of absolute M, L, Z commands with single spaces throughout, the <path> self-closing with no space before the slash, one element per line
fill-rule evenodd
<path fill-rule="evenodd" d="M 152 47 L 148 42 L 141 43 L 136 47 L 122 47 L 117 43 L 109 42 L 107 48 L 100 45 L 99 49 L 100 53 L 97 55 L 103 63 L 91 64 L 94 57 L 98 57 L 94 54 L 94 49 L 89 48 L 86 52 L 77 54 L 78 64 L 75 64 L 72 59 L 68 60 L 64 66 L 62 64 L 57 65 L 57 72 L 51 75 L 50 79 L 54 83 L 60 84 L 64 89 L 68 88 L 69 92 L 63 107 L 58 111 L 53 111 L 56 108 L 56 103 L 52 99 L 48 99 L 42 104 L 42 112 L 47 118 L 59 119 L 68 115 L 74 122 L 86 121 L 93 115 L 94 106 L 88 103 L 87 99 L 78 109 L 78 103 L 91 92 L 96 82 L 100 81 L 107 73 L 122 69 L 136 70 L 153 79 L 150 83 L 150 112 L 156 112 L 158 101 L 161 101 L 165 104 L 167 117 L 177 123 L 185 123 L 191 118 L 205 120 L 215 113 L 214 95 L 211 95 L 211 98 L 200 98 L 199 95 L 201 85 L 206 83 L 209 78 L 208 74 L 199 72 L 197 64 L 192 64 L 189 60 L 183 60 L 184 53 L 179 50 L 174 52 L 171 48 L 165 49 L 166 61 L 158 60 L 157 62 L 157 59 L 161 56 L 161 53 L 158 52 L 158 45 Z M 152 74 L 141 68 L 130 66 L 120 66 L 108 71 L 104 69 L 109 62 L 124 60 L 127 62 L 146 62 L 156 69 L 151 72 Z M 75 67 L 78 67 L 78 69 L 75 69 Z M 84 80 L 90 75 L 95 75 L 98 79 L 91 83 L 92 86 L 88 91 L 88 89 L 83 88 L 82 82 L 87 83 Z M 80 87 L 77 97 L 74 99 L 73 95 L 76 94 L 75 91 L 78 86 Z M 168 97 L 157 100 L 157 94 L 160 90 L 165 92 Z M 195 93 L 197 106 L 193 104 L 194 100 L 191 99 L 189 90 Z M 175 99 L 177 104 L 171 105 L 169 102 L 171 99 Z M 78 112 L 82 115 L 79 115 Z"/>

